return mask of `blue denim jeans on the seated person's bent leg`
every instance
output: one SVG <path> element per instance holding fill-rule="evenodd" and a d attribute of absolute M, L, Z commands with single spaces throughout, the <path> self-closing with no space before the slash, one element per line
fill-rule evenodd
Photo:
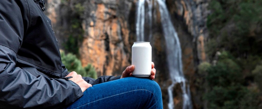
<path fill-rule="evenodd" d="M 68 109 L 162 109 L 159 85 L 147 78 L 127 77 L 93 85 Z"/>

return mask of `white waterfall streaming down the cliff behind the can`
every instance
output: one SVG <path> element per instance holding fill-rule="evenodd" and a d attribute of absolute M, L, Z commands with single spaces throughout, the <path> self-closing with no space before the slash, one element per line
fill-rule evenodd
<path fill-rule="evenodd" d="M 145 1 L 148 4 L 148 9 L 145 11 Z M 149 41 L 152 38 L 152 1 L 153 0 L 139 0 L 137 3 L 137 20 L 136 20 L 136 34 L 137 41 L 145 41 L 144 36 L 144 25 L 145 25 L 145 13 L 147 14 L 149 26 Z M 191 109 L 191 96 L 189 85 L 186 84 L 186 79 L 183 74 L 183 64 L 182 64 L 182 53 L 179 38 L 177 32 L 171 22 L 169 12 L 167 10 L 165 0 L 155 0 L 154 6 L 156 7 L 156 2 L 159 4 L 159 12 L 161 15 L 161 24 L 163 30 L 163 36 L 166 41 L 166 54 L 167 54 L 167 65 L 170 72 L 170 77 L 172 84 L 168 87 L 168 108 L 173 109 L 173 87 L 175 84 L 179 83 L 182 89 L 183 96 L 183 109 Z M 155 13 L 154 13 L 155 15 Z M 155 15 L 156 16 L 156 15 Z M 151 36 L 150 36 L 151 35 Z"/>

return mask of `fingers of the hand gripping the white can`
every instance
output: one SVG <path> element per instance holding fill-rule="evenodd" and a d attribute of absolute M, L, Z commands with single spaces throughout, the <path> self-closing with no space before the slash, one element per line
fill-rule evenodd
<path fill-rule="evenodd" d="M 151 75 L 149 76 L 149 79 L 155 79 L 156 69 L 154 68 L 155 64 L 152 62 L 152 69 L 151 69 Z M 132 72 L 134 71 L 135 66 L 130 65 L 127 68 L 125 68 L 125 71 L 123 71 L 121 78 L 130 77 L 132 76 Z"/>

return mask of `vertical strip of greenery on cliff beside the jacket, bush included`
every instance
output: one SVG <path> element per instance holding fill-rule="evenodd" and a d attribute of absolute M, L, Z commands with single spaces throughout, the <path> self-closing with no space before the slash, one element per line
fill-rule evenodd
<path fill-rule="evenodd" d="M 81 18 L 84 13 L 84 7 L 81 3 L 83 3 L 81 0 L 61 0 L 61 7 L 69 7 L 66 8 L 66 12 L 70 13 L 64 16 L 69 24 L 67 31 L 65 31 L 67 40 L 63 43 L 64 52 L 61 52 L 61 58 L 69 72 L 75 71 L 83 77 L 97 78 L 95 68 L 91 64 L 83 67 L 79 60 L 79 46 L 82 44 L 84 36 L 83 19 Z"/>

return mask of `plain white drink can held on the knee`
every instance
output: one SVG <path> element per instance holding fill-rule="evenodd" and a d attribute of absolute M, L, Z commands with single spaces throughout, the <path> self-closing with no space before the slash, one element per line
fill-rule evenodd
<path fill-rule="evenodd" d="M 132 73 L 135 77 L 149 77 L 152 69 L 152 47 L 150 42 L 134 42 L 132 46 Z"/>

